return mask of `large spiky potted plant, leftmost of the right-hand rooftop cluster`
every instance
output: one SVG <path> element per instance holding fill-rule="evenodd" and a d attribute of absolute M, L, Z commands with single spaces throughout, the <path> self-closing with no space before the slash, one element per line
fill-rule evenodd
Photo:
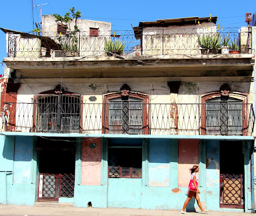
<path fill-rule="evenodd" d="M 221 38 L 219 33 L 207 33 L 198 36 L 198 43 L 200 45 L 202 54 L 217 54 L 221 48 Z"/>

